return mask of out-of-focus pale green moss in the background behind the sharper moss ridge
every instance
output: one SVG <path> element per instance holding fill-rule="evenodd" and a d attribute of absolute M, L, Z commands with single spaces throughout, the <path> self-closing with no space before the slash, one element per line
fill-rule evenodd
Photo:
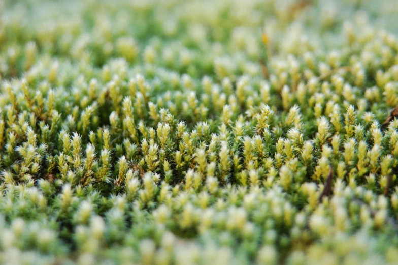
<path fill-rule="evenodd" d="M 153 61 L 202 76 L 213 75 L 220 58 L 232 71 L 239 72 L 230 62 L 238 60 L 258 73 L 250 62 L 263 56 L 262 34 L 270 56 L 285 56 L 339 48 L 350 32 L 367 38 L 377 28 L 398 31 L 395 0 L 6 0 L 0 14 L 3 77 L 27 70 L 16 65 L 11 73 L 10 65 L 34 48 L 94 67 L 124 57 L 130 65 Z"/>

